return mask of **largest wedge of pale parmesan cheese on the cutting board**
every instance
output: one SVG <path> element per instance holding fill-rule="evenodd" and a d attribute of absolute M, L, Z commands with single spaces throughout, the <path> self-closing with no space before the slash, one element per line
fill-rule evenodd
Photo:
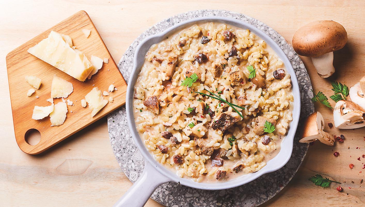
<path fill-rule="evenodd" d="M 29 48 L 28 53 L 79 81 L 85 81 L 94 66 L 84 53 L 72 47 L 70 36 L 51 31 L 46 39 Z"/>

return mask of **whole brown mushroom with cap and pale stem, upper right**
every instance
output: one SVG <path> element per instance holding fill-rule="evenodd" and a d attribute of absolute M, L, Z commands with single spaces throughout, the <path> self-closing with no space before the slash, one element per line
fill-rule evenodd
<path fill-rule="evenodd" d="M 320 20 L 311 22 L 293 36 L 293 48 L 299 54 L 311 57 L 317 73 L 322 78 L 330 77 L 334 72 L 333 51 L 346 45 L 347 33 L 337 22 Z"/>

